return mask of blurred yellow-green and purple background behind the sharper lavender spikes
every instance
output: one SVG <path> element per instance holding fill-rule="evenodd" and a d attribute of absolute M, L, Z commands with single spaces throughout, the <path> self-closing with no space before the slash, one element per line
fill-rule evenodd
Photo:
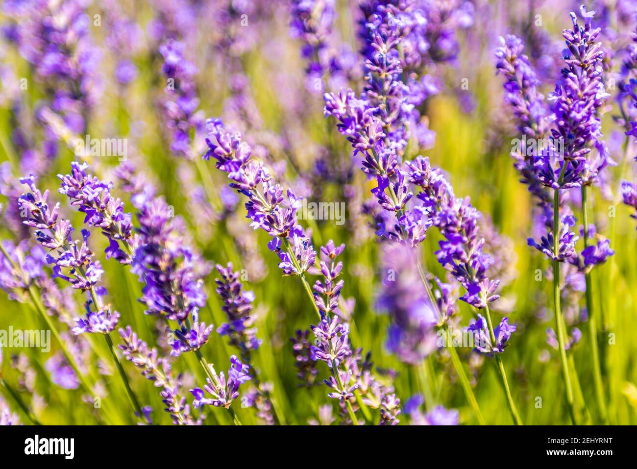
<path fill-rule="evenodd" d="M 29 3 L 29 2 L 25 2 Z M 287 1 L 50 1 L 42 2 L 55 8 L 60 4 L 77 4 L 88 18 L 87 34 L 99 57 L 83 70 L 94 83 L 87 84 L 91 103 L 82 112 L 85 132 L 95 138 L 126 138 L 128 159 L 134 162 L 165 196 L 175 214 L 183 217 L 192 240 L 203 257 L 212 263 L 232 262 L 242 272 L 245 289 L 254 292 L 256 327 L 262 346 L 254 354 L 261 376 L 273 384 L 272 396 L 276 415 L 287 424 L 306 424 L 317 419 L 319 405 L 336 403 L 327 397 L 327 387 L 317 380 L 311 389 L 299 387 L 297 370 L 290 337 L 296 329 L 308 329 L 315 323 L 312 306 L 304 296 L 301 285 L 293 277 L 282 277 L 277 268 L 278 258 L 268 251 L 268 236 L 252 231 L 245 220 L 242 203 L 232 201 L 222 189 L 227 185 L 224 174 L 212 164 L 202 164 L 199 155 L 206 145 L 204 133 L 197 134 L 196 152 L 199 155 L 183 157 L 171 149 L 172 133 L 166 126 L 166 76 L 162 73 L 163 57 L 159 54 L 162 40 L 171 34 L 180 36 L 184 44 L 183 55 L 196 67 L 192 78 L 199 96 L 199 109 L 204 117 L 222 117 L 224 122 L 236 126 L 244 138 L 265 155 L 277 174 L 287 178 L 295 188 L 304 188 L 311 201 L 345 201 L 345 224 L 334 220 L 304 220 L 312 228 L 315 247 L 332 239 L 345 243 L 341 259 L 344 264 L 344 298 L 355 299 L 354 318 L 360 345 L 370 351 L 375 367 L 395 370 L 396 394 L 404 402 L 413 394 L 422 392 L 422 372 L 419 366 L 401 363 L 385 347 L 387 315 L 376 308 L 380 291 L 380 250 L 369 219 L 361 213 L 362 203 L 369 198 L 373 187 L 359 171 L 350 165 L 352 150 L 335 130 L 333 120 L 324 119 L 322 92 L 348 85 L 361 89 L 362 73 L 352 66 L 349 83 L 329 79 L 320 80 L 318 87 L 306 73 L 307 62 L 301 55 L 303 41 L 290 35 L 290 6 Z M 469 196 L 473 205 L 485 217 L 490 217 L 501 238 L 487 236 L 491 249 L 506 256 L 506 285 L 502 298 L 494 304 L 497 321 L 508 315 L 517 325 L 517 332 L 506 349 L 505 366 L 512 387 L 513 398 L 526 424 L 568 423 L 568 412 L 563 398 L 561 370 L 557 351 L 547 343 L 547 328 L 552 327 L 552 282 L 538 270 L 545 271 L 548 261 L 527 246 L 532 235 L 533 202 L 526 186 L 520 184 L 513 168 L 511 140 L 516 131 L 510 122 L 510 113 L 503 101 L 502 79 L 496 76 L 494 48 L 497 36 L 513 33 L 531 44 L 531 61 L 543 77 L 543 91 L 552 89 L 561 67 L 563 41 L 561 31 L 571 26 L 570 10 L 578 4 L 568 1 L 485 1 L 473 2 L 433 1 L 436 11 L 454 11 L 464 8 L 470 21 L 459 21 L 448 15 L 444 34 L 457 42 L 457 53 L 445 61 L 432 61 L 427 71 L 440 85 L 440 92 L 429 97 L 421 113 L 429 120 L 435 132 L 430 148 L 419 148 L 410 143 L 406 157 L 427 155 L 432 163 L 445 170 L 454 185 L 457 196 Z M 39 110 L 52 103 L 55 81 L 43 75 L 38 64 L 29 61 L 24 44 L 30 34 L 31 18 L 21 16 L 20 1 L 4 1 L 0 23 L 3 37 L 0 41 L 0 159 L 3 161 L 1 184 L 4 206 L 11 203 L 6 195 L 11 180 L 17 175 L 39 174 L 39 187 L 52 191 L 51 198 L 60 201 L 64 216 L 76 226 L 82 216 L 57 194 L 58 173 L 66 174 L 70 162 L 76 157 L 71 145 L 77 135 L 62 132 L 51 138 L 50 126 L 43 124 Z M 597 1 L 589 5 L 598 10 L 601 18 L 602 41 L 609 50 L 621 50 L 631 40 L 631 31 L 637 26 L 637 4 L 631 1 Z M 337 15 L 334 34 L 341 45 L 348 46 L 352 61 L 360 45 L 356 36 L 359 10 L 356 1 L 336 1 Z M 99 15 L 96 16 L 96 15 Z M 96 25 L 99 18 L 99 25 Z M 455 18 L 455 19 L 454 19 Z M 463 17 L 464 18 L 464 17 Z M 539 20 L 538 20 L 539 18 Z M 540 25 L 537 25 L 539 21 Z M 25 26 L 26 25 L 26 26 Z M 23 29 L 20 29 L 20 28 Z M 444 28 L 447 27 L 447 30 Z M 22 36 L 20 36 L 22 34 Z M 445 36 L 447 37 L 447 36 Z M 28 44 L 27 44 L 28 45 Z M 455 46 L 454 46 L 455 47 Z M 528 54 L 528 52 L 527 52 Z M 350 59 L 343 55 L 343 60 Z M 610 65 L 609 76 L 619 71 L 620 60 Z M 552 77 L 552 78 L 551 78 Z M 20 80 L 24 79 L 22 82 Z M 26 83 L 26 87 L 21 86 Z M 613 95 L 617 89 L 609 87 Z M 592 222 L 598 233 L 610 238 L 615 249 L 606 264 L 593 273 L 594 302 L 598 311 L 601 368 L 608 399 L 609 420 L 615 424 L 637 422 L 637 257 L 636 220 L 630 217 L 631 208 L 621 203 L 620 180 L 634 179 L 634 154 L 626 149 L 624 130 L 615 120 L 614 100 L 608 101 L 604 118 L 606 143 L 619 165 L 609 168 L 609 182 L 605 191 L 593 191 Z M 68 130 L 68 129 L 67 129 Z M 44 156 L 46 142 L 55 141 L 55 157 Z M 31 151 L 31 153 L 29 153 Z M 195 153 L 196 153 L 195 152 Z M 633 151 L 634 152 L 634 151 Z M 32 154 L 32 153 L 35 153 Z M 113 179 L 113 168 L 118 158 L 95 157 L 90 170 L 100 178 Z M 319 169 L 317 169 L 319 168 Z M 320 170 L 322 168 L 322 170 Z M 324 171 L 321 173 L 321 171 Z M 326 175 L 327 174 L 327 175 Z M 356 188 L 358 197 L 346 198 L 344 193 Z M 113 189 L 132 210 L 125 193 Z M 297 189 L 298 190 L 298 189 Z M 354 189 L 352 189 L 354 191 Z M 231 208 L 222 200 L 230 199 Z M 15 203 L 15 201 L 13 201 Z M 3 210 L 3 215 L 6 210 Z M 1 236 L 16 239 L 17 230 L 3 217 Z M 445 271 L 433 252 L 440 237 L 434 230 L 424 242 L 424 262 L 429 271 L 441 278 Z M 581 243 L 581 241 L 580 241 Z M 94 235 L 91 245 L 101 259 L 105 239 Z M 157 318 L 144 315 L 144 307 L 137 299 L 141 284 L 125 266 L 101 259 L 104 281 L 110 292 L 113 308 L 122 315 L 121 325 L 131 324 L 141 338 L 150 345 L 166 350 L 162 343 L 161 326 Z M 208 301 L 201 310 L 201 319 L 217 326 L 225 322 L 220 299 L 215 293 L 216 271 L 206 277 Z M 80 315 L 80 294 L 77 310 Z M 575 294 L 569 305 L 567 321 L 581 322 L 583 296 Z M 471 307 L 460 302 L 462 324 L 474 317 Z M 10 301 L 0 294 L 0 328 L 41 329 L 45 324 L 29 308 L 28 302 Z M 582 328 L 585 331 L 585 328 Z M 584 332 L 584 335 L 586 332 Z M 157 345 L 159 340 L 159 345 Z M 162 349 L 162 346 L 164 348 Z M 82 400 L 81 389 L 63 389 L 52 380 L 47 364 L 57 354 L 57 343 L 52 338 L 52 349 L 43 353 L 38 349 L 4 349 L 2 375 L 34 414 L 45 424 L 93 424 L 93 409 Z M 97 342 L 106 356 L 105 345 Z M 478 356 L 470 349 L 460 349 L 463 363 L 473 382 L 476 398 L 490 424 L 509 424 L 503 391 L 499 386 L 497 370 L 488 357 Z M 211 363 L 225 368 L 227 357 L 233 354 L 227 340 L 213 333 L 203 354 Z M 572 350 L 578 375 L 578 398 L 589 404 L 592 421 L 597 414 L 594 406 L 592 368 L 586 336 Z M 104 400 L 115 405 L 118 422 L 133 423 L 124 387 L 118 380 L 112 363 L 100 363 L 87 352 L 85 359 L 90 368 L 99 370 L 104 389 Z M 328 370 L 320 364 L 320 378 Z M 474 424 L 462 389 L 457 383 L 448 354 L 442 350 L 433 354 L 427 366 L 434 376 L 435 403 L 459 411 L 461 424 Z M 124 368 L 132 387 L 144 405 L 154 408 L 152 419 L 158 424 L 169 424 L 162 412 L 157 389 L 141 377 L 130 363 Z M 183 372 L 184 388 L 203 383 L 204 377 L 191 354 L 173 360 L 173 369 Z M 22 422 L 28 422 L 7 396 L 10 405 Z M 538 407 L 537 398 L 541 398 Z M 189 400 L 191 397 L 189 396 Z M 112 407 L 112 406 L 111 406 Z M 233 405 L 244 424 L 257 423 L 254 409 Z M 206 409 L 210 414 L 204 421 L 231 424 L 229 416 L 218 408 Z M 410 419 L 401 415 L 401 424 Z M 338 423 L 338 419 L 334 424 Z"/>

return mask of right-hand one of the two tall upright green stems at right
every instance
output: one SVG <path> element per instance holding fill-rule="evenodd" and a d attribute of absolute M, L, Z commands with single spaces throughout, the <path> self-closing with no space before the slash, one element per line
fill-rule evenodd
<path fill-rule="evenodd" d="M 589 202 L 588 202 L 588 186 L 582 186 L 582 219 L 584 224 L 584 248 L 589 247 Z M 608 421 L 608 412 L 606 410 L 606 398 L 604 396 L 604 385 L 601 378 L 601 368 L 599 366 L 599 350 L 597 341 L 597 326 L 595 310 L 593 306 L 592 282 L 590 280 L 590 271 L 585 273 L 586 281 L 586 311 L 589 315 L 589 345 L 590 356 L 592 357 L 593 382 L 595 389 L 595 397 L 599 408 L 599 418 L 603 424 Z"/>

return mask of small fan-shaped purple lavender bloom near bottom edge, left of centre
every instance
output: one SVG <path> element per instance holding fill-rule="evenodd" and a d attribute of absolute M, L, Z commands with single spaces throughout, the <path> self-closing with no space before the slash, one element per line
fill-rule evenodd
<path fill-rule="evenodd" d="M 190 393 L 194 396 L 194 401 L 192 401 L 194 407 L 213 405 L 215 407 L 229 408 L 233 400 L 239 397 L 239 386 L 251 379 L 250 373 L 248 372 L 248 365 L 241 363 L 234 355 L 230 357 L 230 363 L 227 382 L 224 372 L 217 375 L 214 370 L 211 370 L 215 377 L 215 382 L 212 382 L 210 378 L 206 378 L 208 384 L 206 384 L 203 389 L 199 387 L 190 389 Z M 212 398 L 206 398 L 204 390 L 207 391 Z"/>

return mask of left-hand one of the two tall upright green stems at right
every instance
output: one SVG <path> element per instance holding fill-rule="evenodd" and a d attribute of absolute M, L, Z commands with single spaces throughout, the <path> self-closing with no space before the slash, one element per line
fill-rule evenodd
<path fill-rule="evenodd" d="M 564 173 L 566 164 L 562 166 L 562 173 Z M 561 181 L 562 177 L 560 177 Z M 559 189 L 555 189 L 553 198 L 553 257 L 559 256 Z M 564 386 L 566 387 L 566 403 L 568 404 L 568 411 L 571 415 L 571 421 L 573 424 L 577 424 L 575 417 L 575 399 L 573 398 L 573 384 L 571 384 L 571 375 L 568 368 L 568 361 L 566 359 L 566 346 L 564 340 L 564 319 L 562 318 L 561 308 L 561 287 L 560 287 L 560 263 L 559 261 L 553 261 L 553 297 L 555 301 L 555 334 L 557 335 L 557 344 L 559 348 L 559 358 L 562 366 L 562 379 L 564 379 Z"/>

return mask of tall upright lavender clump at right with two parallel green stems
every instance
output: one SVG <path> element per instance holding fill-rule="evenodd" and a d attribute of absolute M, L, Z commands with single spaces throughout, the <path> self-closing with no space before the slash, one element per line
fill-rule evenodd
<path fill-rule="evenodd" d="M 529 185 L 529 191 L 538 199 L 542 209 L 547 235 L 541 243 L 529 238 L 529 245 L 543 252 L 552 260 L 554 276 L 554 301 L 557 339 L 566 387 L 566 400 L 569 404 L 571 419 L 576 421 L 575 398 L 569 366 L 566 359 L 565 326 L 561 311 L 561 263 L 569 262 L 585 272 L 586 303 L 589 314 L 590 352 L 594 366 L 596 397 L 600 417 L 606 420 L 606 404 L 601 382 L 599 353 L 597 345 L 597 326 L 592 300 L 590 270 L 612 256 L 608 241 L 599 241 L 597 246 L 589 241 L 589 187 L 599 184 L 601 171 L 609 164 L 615 164 L 608 155 L 605 143 L 601 140 L 600 115 L 603 105 L 610 96 L 606 93 L 602 80 L 604 53 L 596 38 L 601 31 L 592 29 L 595 11 L 580 9 L 584 19 L 583 27 L 578 25 L 575 13 L 570 13 L 572 29 L 565 29 L 562 36 L 566 41 L 563 52 L 565 68 L 555 85 L 555 91 L 549 94 L 552 102 L 550 109 L 543 96 L 537 91 L 538 80 L 525 55 L 521 55 L 524 45 L 508 36 L 501 40 L 496 50 L 499 59 L 497 68 L 506 77 L 506 101 L 513 107 L 520 131 L 527 131 L 536 138 L 550 134 L 552 142 L 548 148 L 536 151 L 524 148 L 526 157 L 516 156 L 515 166 L 521 171 L 523 182 Z M 550 112 L 552 113 L 549 113 Z M 556 148 L 555 142 L 563 147 Z M 575 225 L 575 217 L 568 211 L 561 215 L 561 191 L 581 188 L 584 249 L 582 257 L 575 252 L 578 236 L 569 229 Z M 550 217 L 550 197 L 547 190 L 554 191 L 552 221 Z M 562 192 L 563 194 L 563 192 Z M 567 209 L 568 210 L 568 209 Z M 562 213 L 564 209 L 562 209 Z M 594 229 L 594 228 L 593 228 Z"/>

